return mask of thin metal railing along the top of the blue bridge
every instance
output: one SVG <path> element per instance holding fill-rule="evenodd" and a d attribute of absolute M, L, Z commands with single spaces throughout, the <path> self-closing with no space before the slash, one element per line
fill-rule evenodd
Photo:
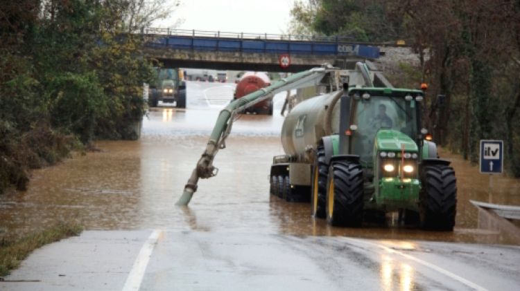
<path fill-rule="evenodd" d="M 324 35 L 277 35 L 272 33 L 227 32 L 212 30 L 187 30 L 176 28 L 144 28 L 139 31 L 145 35 L 178 35 L 185 37 L 217 37 L 231 39 L 264 39 L 284 41 L 324 41 L 324 42 L 353 42 L 353 37 L 324 36 Z"/>

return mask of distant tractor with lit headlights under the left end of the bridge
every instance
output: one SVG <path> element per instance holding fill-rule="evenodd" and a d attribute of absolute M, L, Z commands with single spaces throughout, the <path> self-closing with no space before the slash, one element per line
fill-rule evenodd
<path fill-rule="evenodd" d="M 173 103 L 177 108 L 186 108 L 186 82 L 177 68 L 157 69 L 157 83 L 150 85 L 148 105 L 157 106 L 159 101 Z"/>

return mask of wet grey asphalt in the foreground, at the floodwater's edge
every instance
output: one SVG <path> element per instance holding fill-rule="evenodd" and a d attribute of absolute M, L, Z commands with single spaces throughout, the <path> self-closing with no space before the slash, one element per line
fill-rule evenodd
<path fill-rule="evenodd" d="M 37 250 L 1 290 L 518 290 L 496 245 L 236 232 L 89 231 Z M 27 280 L 39 280 L 28 282 Z"/>

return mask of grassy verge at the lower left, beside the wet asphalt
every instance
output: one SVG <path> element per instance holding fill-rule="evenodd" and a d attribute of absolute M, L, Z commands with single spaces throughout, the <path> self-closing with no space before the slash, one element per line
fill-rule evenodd
<path fill-rule="evenodd" d="M 10 274 L 10 270 L 16 269 L 21 261 L 38 247 L 60 241 L 69 236 L 77 236 L 82 231 L 83 227 L 80 225 L 58 223 L 53 227 L 29 234 L 16 241 L 0 241 L 0 276 Z"/>

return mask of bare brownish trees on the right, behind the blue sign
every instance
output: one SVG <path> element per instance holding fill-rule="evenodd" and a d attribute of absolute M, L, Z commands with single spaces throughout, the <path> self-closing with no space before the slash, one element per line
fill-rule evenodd
<path fill-rule="evenodd" d="M 383 17 L 368 17 L 370 6 Z M 327 34 L 356 27 L 370 41 L 406 39 L 431 84 L 424 121 L 436 141 L 476 162 L 478 140 L 503 138 L 508 167 L 520 176 L 519 1 L 313 0 L 297 3 L 293 21 Z"/>

